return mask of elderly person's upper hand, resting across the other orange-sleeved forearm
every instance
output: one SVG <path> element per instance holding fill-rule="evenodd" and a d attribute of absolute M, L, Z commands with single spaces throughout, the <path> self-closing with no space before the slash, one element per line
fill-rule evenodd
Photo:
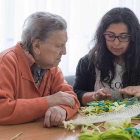
<path fill-rule="evenodd" d="M 67 105 L 71 108 L 75 106 L 74 96 L 66 92 L 59 91 L 53 95 L 46 96 L 49 107 L 58 105 Z"/>

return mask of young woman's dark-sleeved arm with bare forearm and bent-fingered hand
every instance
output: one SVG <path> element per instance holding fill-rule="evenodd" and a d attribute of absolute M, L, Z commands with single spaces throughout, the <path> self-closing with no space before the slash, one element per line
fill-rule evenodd
<path fill-rule="evenodd" d="M 95 77 L 95 67 L 89 66 L 89 60 L 86 55 L 80 59 L 77 65 L 74 84 L 74 91 L 77 93 L 81 105 L 86 106 L 88 102 L 105 100 L 111 97 L 110 92 L 106 88 L 94 92 Z"/>

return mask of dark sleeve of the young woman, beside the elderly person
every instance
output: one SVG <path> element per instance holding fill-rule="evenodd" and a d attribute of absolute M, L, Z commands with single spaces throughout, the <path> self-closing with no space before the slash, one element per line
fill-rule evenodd
<path fill-rule="evenodd" d="M 82 96 L 86 92 L 94 91 L 95 68 L 89 66 L 88 55 L 82 57 L 76 68 L 74 91 L 82 105 Z"/>

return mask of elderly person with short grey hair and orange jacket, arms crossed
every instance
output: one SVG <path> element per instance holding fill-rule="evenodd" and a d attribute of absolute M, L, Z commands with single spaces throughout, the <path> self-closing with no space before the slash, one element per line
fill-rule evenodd
<path fill-rule="evenodd" d="M 0 53 L 0 124 L 45 117 L 45 126 L 57 126 L 77 112 L 76 94 L 57 67 L 66 28 L 62 17 L 36 12 L 25 20 L 22 41 Z"/>

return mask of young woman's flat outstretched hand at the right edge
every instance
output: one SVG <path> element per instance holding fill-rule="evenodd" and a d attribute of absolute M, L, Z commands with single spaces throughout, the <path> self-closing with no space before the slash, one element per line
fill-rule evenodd
<path fill-rule="evenodd" d="M 128 86 L 126 88 L 120 89 L 120 93 L 134 95 L 135 97 L 140 97 L 140 86 Z"/>

